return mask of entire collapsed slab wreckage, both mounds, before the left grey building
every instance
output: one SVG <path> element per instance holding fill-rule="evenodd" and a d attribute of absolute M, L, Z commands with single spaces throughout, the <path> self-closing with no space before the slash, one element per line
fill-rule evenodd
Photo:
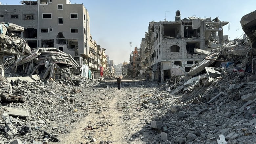
<path fill-rule="evenodd" d="M 23 27 L 11 23 L 0 23 L 1 52 L 9 57 L 3 62 L 6 77 L 40 75 L 43 79 L 66 78 L 79 74 L 78 64 L 70 54 L 56 48 L 38 48 L 31 51 L 27 42 L 17 35 Z M 15 31 L 15 33 L 13 32 Z"/>

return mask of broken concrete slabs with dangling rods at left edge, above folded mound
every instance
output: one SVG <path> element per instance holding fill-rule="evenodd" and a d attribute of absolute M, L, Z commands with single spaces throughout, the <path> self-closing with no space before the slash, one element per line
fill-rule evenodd
<path fill-rule="evenodd" d="M 31 49 L 24 39 L 12 31 L 24 31 L 24 28 L 12 23 L 0 22 L 0 51 L 13 54 L 31 54 Z"/>

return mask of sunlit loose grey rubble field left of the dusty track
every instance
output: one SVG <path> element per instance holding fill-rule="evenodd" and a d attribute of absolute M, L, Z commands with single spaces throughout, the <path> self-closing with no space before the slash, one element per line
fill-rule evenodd
<path fill-rule="evenodd" d="M 71 82 L 78 82 L 78 77 L 74 78 L 74 81 L 70 80 Z M 84 102 L 76 102 L 79 98 L 85 98 L 81 90 L 96 83 L 95 80 L 81 77 L 80 82 L 76 84 L 80 87 L 74 87 L 69 83 L 64 85 L 60 80 L 17 80 L 13 86 L 2 81 L 0 143 L 12 142 L 19 136 L 28 141 L 58 141 L 56 136 L 69 133 L 70 130 L 66 126 L 85 117 L 86 112 L 77 111 L 89 109 Z M 58 124 L 59 121 L 64 121 L 66 126 Z M 57 125 L 60 126 L 56 127 Z M 53 134 L 52 138 L 45 138 L 41 133 L 45 131 Z"/>

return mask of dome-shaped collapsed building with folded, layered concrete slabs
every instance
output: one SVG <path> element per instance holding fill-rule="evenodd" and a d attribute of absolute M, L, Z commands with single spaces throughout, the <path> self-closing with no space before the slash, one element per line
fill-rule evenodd
<path fill-rule="evenodd" d="M 6 74 L 13 75 L 18 72 L 25 75 L 38 74 L 43 79 L 49 77 L 59 79 L 74 73 L 71 71 L 77 70 L 77 67 L 78 64 L 70 54 L 56 48 L 38 48 L 31 55 L 17 59 Z"/>

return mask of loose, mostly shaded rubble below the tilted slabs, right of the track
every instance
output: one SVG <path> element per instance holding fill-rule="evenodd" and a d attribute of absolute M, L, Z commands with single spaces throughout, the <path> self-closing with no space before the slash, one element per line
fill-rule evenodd
<path fill-rule="evenodd" d="M 156 140 L 178 144 L 214 143 L 222 135 L 230 144 L 256 143 L 256 87 L 248 79 L 255 76 L 220 72 L 211 85 L 195 82 L 194 91 L 175 95 L 162 86 L 143 102 L 142 108 L 153 113 L 145 128 L 155 130 Z"/>

